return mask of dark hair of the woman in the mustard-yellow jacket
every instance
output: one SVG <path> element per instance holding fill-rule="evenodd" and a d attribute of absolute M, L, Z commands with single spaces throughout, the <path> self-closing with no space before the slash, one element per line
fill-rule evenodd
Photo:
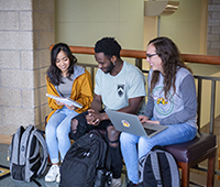
<path fill-rule="evenodd" d="M 63 84 L 62 70 L 56 66 L 56 57 L 61 51 L 66 53 L 70 62 L 68 72 L 67 72 L 68 79 L 70 79 L 72 74 L 74 74 L 74 65 L 77 63 L 77 58 L 72 54 L 72 51 L 67 44 L 57 43 L 53 46 L 52 52 L 51 52 L 51 65 L 46 72 L 46 75 L 50 78 L 50 81 L 55 86 Z"/>

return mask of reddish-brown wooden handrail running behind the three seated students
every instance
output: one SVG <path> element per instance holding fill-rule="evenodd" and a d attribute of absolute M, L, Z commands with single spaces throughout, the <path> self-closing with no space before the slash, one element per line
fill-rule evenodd
<path fill-rule="evenodd" d="M 50 50 L 54 45 L 50 46 Z M 69 46 L 73 53 L 94 55 L 94 47 L 86 46 Z M 134 51 L 134 50 L 121 50 L 120 55 L 122 57 L 131 58 L 146 58 L 145 51 Z M 184 62 L 196 63 L 196 64 L 209 64 L 209 65 L 220 65 L 220 56 L 209 56 L 209 55 L 195 55 L 195 54 L 180 54 Z"/>

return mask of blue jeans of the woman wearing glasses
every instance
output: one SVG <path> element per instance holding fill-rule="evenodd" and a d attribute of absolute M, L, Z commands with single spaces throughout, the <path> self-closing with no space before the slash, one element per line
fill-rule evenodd
<path fill-rule="evenodd" d="M 166 130 L 151 139 L 125 132 L 121 133 L 121 152 L 125 162 L 128 177 L 133 184 L 139 183 L 139 158 L 146 155 L 152 147 L 155 145 L 164 146 L 184 143 L 193 140 L 197 134 L 197 129 L 186 123 L 167 127 Z"/>

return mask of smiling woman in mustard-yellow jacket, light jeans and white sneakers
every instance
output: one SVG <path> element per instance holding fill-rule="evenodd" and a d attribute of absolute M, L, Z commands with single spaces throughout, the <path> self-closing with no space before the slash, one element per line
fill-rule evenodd
<path fill-rule="evenodd" d="M 72 54 L 65 43 L 54 45 L 51 52 L 51 66 L 46 73 L 47 94 L 70 98 L 82 105 L 82 108 L 67 106 L 48 98 L 48 107 L 52 112 L 47 117 L 46 144 L 48 147 L 52 167 L 45 176 L 46 182 L 59 182 L 59 155 L 61 161 L 70 147 L 69 132 L 70 120 L 81 113 L 91 105 L 92 89 L 90 74 L 76 65 L 77 58 Z"/>

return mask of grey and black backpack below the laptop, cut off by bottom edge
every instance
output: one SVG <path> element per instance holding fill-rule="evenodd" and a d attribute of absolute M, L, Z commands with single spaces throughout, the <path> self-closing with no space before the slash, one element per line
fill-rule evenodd
<path fill-rule="evenodd" d="M 179 170 L 174 156 L 161 146 L 155 146 L 139 161 L 140 186 L 179 187 Z"/>

